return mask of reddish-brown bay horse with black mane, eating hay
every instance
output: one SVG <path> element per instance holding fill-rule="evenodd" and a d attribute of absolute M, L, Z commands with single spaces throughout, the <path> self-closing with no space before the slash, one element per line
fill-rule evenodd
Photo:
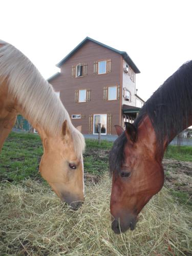
<path fill-rule="evenodd" d="M 112 229 L 135 228 L 143 206 L 162 188 L 162 159 L 173 138 L 192 124 L 192 61 L 186 62 L 148 99 L 134 124 L 116 126 L 110 154 L 113 174 Z"/>

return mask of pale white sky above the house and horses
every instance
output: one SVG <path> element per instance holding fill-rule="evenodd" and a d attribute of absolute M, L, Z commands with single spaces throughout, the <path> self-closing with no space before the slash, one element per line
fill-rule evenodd
<path fill-rule="evenodd" d="M 0 8 L 1 39 L 46 79 L 86 36 L 127 52 L 141 72 L 136 88 L 144 100 L 192 59 L 190 0 L 0 0 Z"/>

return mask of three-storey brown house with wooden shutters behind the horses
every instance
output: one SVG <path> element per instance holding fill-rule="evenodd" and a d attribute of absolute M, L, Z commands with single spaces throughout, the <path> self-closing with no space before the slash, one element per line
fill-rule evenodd
<path fill-rule="evenodd" d="M 143 105 L 136 93 L 140 73 L 130 56 L 86 37 L 48 79 L 83 134 L 116 134 L 114 125 L 134 119 Z"/>

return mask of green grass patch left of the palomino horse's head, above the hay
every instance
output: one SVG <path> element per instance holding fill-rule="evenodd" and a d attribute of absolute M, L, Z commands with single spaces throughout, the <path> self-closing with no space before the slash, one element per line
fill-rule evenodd
<path fill-rule="evenodd" d="M 42 152 L 38 135 L 10 133 L 0 155 L 0 180 L 40 179 L 38 167 Z"/>

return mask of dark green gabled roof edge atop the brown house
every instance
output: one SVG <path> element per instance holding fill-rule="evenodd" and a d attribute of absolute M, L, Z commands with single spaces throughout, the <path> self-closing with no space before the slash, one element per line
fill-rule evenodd
<path fill-rule="evenodd" d="M 111 51 L 114 51 L 118 54 L 120 54 L 124 60 L 132 67 L 132 69 L 134 70 L 134 72 L 136 74 L 140 73 L 139 69 L 136 67 L 135 63 L 133 62 L 133 60 L 130 58 L 130 56 L 126 53 L 126 52 L 122 52 L 122 51 L 119 51 L 119 50 L 116 50 L 110 46 L 107 46 L 107 45 L 104 45 L 102 44 L 101 42 L 99 41 L 96 41 L 90 37 L 86 37 L 84 38 L 84 40 L 82 40 L 82 42 L 80 42 L 80 44 L 78 46 L 76 46 L 73 51 L 71 51 L 65 58 L 63 58 L 61 61 L 59 61 L 59 63 L 57 63 L 57 67 L 60 68 L 61 65 L 63 65 L 63 63 L 65 63 L 74 53 L 76 53 L 83 45 L 85 45 L 88 41 L 92 41 L 92 42 L 95 42 L 95 44 L 97 45 L 100 45 L 102 47 L 105 47 Z"/>

